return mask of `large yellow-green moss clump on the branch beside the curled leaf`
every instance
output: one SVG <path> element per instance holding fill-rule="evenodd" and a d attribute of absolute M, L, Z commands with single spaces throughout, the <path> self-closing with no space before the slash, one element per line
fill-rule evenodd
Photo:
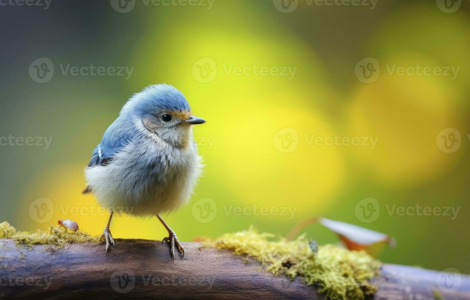
<path fill-rule="evenodd" d="M 335 245 L 318 246 L 314 253 L 305 235 L 294 241 L 274 238 L 273 234 L 248 231 L 227 233 L 204 246 L 230 249 L 237 255 L 253 257 L 274 275 L 285 274 L 292 280 L 305 278 L 318 286 L 326 299 L 362 300 L 376 292 L 369 280 L 379 276 L 380 262 L 365 251 L 349 251 Z"/>

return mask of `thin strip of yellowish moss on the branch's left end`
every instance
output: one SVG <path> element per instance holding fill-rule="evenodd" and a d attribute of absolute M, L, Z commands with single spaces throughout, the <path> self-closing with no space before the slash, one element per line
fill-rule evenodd
<path fill-rule="evenodd" d="M 11 238 L 17 244 L 55 245 L 65 246 L 66 243 L 99 243 L 98 237 L 93 237 L 86 232 L 69 233 L 62 226 L 49 227 L 49 232 L 37 230 L 34 232 L 19 231 L 8 222 L 0 223 L 0 238 Z"/>

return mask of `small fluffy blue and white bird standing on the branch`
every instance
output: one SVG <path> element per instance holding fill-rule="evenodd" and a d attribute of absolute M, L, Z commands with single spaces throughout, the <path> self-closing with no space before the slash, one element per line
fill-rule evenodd
<path fill-rule="evenodd" d="M 192 125 L 206 121 L 193 115 L 180 90 L 149 85 L 133 94 L 104 132 L 85 168 L 86 189 L 110 212 L 100 239 L 105 256 L 115 248 L 110 231 L 113 215 L 157 216 L 163 224 L 174 263 L 175 245 L 184 247 L 161 215 L 186 204 L 203 172 Z"/>

